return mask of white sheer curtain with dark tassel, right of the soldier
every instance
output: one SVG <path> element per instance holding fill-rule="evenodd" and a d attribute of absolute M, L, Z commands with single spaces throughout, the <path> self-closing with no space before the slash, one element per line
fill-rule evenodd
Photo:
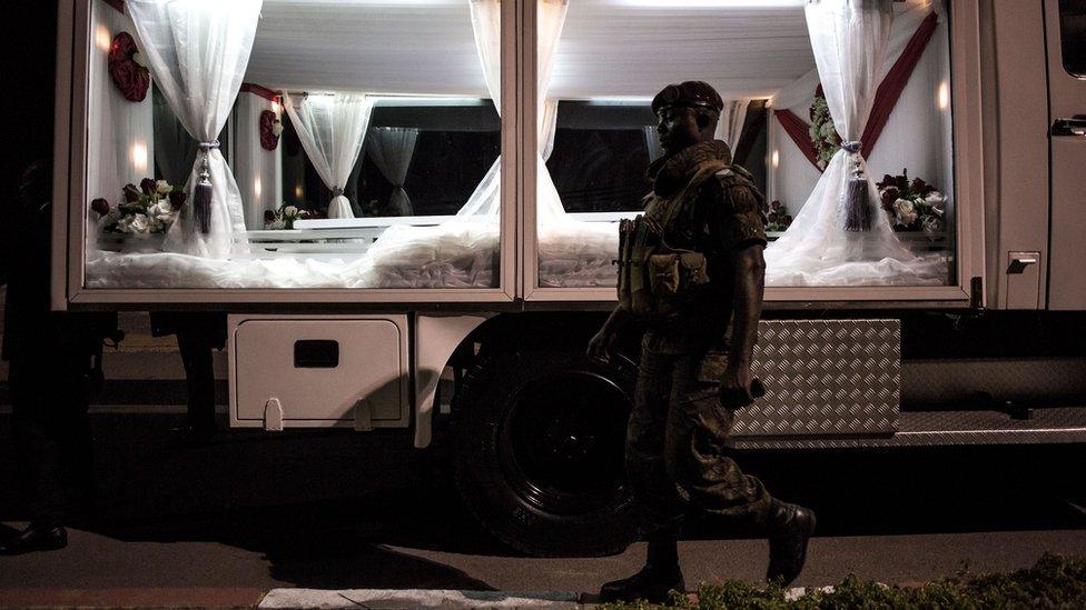
<path fill-rule="evenodd" d="M 889 0 L 817 0 L 807 24 L 818 74 L 833 123 L 845 141 L 858 140 L 875 98 L 890 36 Z M 830 160 L 791 227 L 766 249 L 766 281 L 772 286 L 941 283 L 945 266 L 918 258 L 873 209 L 868 231 L 847 231 L 846 189 L 853 162 L 846 150 Z M 866 163 L 860 167 L 867 172 Z M 871 206 L 878 193 L 867 177 Z"/>

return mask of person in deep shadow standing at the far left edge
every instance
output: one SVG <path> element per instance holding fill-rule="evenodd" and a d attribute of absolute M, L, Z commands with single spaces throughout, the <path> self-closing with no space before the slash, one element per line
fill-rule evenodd
<path fill-rule="evenodd" d="M 0 554 L 60 549 L 66 522 L 93 513 L 93 471 L 88 390 L 101 383 L 103 338 L 119 340 L 116 313 L 50 311 L 52 171 L 32 163 L 19 197 L 6 203 L 9 250 L 0 261 L 8 284 L 3 358 L 9 361 L 12 436 L 30 524 L 0 542 Z M 78 514 L 78 513 L 77 513 Z"/>

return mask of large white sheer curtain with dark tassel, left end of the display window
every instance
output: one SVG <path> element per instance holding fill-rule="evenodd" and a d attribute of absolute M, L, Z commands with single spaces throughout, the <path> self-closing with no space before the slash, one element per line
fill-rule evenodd
<path fill-rule="evenodd" d="M 170 227 L 172 252 L 226 258 L 246 247 L 241 193 L 215 138 L 237 99 L 253 51 L 263 0 L 129 0 L 140 50 L 174 114 L 204 151 L 189 173 L 189 203 Z M 192 194 L 205 169 L 211 183 L 210 224 L 199 230 Z"/>

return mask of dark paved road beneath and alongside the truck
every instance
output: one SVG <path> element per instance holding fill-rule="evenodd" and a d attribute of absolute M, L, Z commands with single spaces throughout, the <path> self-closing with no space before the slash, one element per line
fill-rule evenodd
<path fill-rule="evenodd" d="M 160 408 L 158 408 L 160 409 Z M 62 551 L 0 558 L 0 606 L 250 604 L 273 588 L 593 591 L 643 547 L 599 559 L 517 557 L 412 467 L 398 433 L 229 432 L 171 447 L 175 413 L 99 410 L 95 526 Z M 131 412 L 137 411 L 137 412 Z M 176 411 L 176 409 L 175 409 Z M 0 414 L 0 520 L 18 526 L 10 422 Z M 922 581 L 1086 553 L 1086 448 L 748 453 L 747 469 L 820 514 L 800 584 L 849 572 Z M 758 579 L 763 541 L 695 524 L 688 582 Z"/>

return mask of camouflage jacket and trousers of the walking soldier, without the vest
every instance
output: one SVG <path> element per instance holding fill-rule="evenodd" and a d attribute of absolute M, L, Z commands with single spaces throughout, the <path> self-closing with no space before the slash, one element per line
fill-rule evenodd
<path fill-rule="evenodd" d="M 731 162 L 727 144 L 702 142 L 649 169 L 646 216 L 668 203 L 707 162 Z M 727 456 L 734 410 L 718 401 L 732 278 L 724 254 L 764 244 L 762 196 L 740 167 L 710 174 L 664 227 L 672 248 L 705 254 L 709 290 L 667 317 L 644 320 L 634 409 L 626 433 L 626 474 L 645 511 L 648 534 L 674 532 L 685 508 L 761 526 L 771 497 Z"/>

